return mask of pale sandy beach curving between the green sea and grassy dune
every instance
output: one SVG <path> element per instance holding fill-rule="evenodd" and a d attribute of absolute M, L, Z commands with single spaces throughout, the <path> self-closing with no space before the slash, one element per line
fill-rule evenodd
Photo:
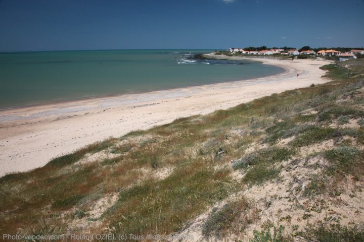
<path fill-rule="evenodd" d="M 280 66 L 286 72 L 237 82 L 2 110 L 0 176 L 43 166 L 54 157 L 108 137 L 329 81 L 321 77 L 325 71 L 319 69 L 327 61 L 258 61 Z"/>

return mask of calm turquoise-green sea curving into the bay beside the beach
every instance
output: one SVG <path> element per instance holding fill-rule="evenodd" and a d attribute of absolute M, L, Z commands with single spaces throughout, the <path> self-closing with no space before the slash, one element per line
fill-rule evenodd
<path fill-rule="evenodd" d="M 0 108 L 264 77 L 282 68 L 197 60 L 213 50 L 94 50 L 0 53 Z"/>

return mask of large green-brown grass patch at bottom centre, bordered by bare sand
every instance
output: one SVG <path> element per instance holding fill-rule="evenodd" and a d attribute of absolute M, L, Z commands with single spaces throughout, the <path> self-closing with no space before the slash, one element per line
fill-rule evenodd
<path fill-rule="evenodd" d="M 234 187 L 225 171 L 201 168 L 181 168 L 164 180 L 120 192 L 117 203 L 105 212 L 105 219 L 118 234 L 177 231 Z"/>

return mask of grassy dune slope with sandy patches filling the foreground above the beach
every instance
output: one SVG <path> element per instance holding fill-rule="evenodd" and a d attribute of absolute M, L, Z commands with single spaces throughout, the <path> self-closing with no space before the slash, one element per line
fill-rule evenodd
<path fill-rule="evenodd" d="M 203 239 L 362 241 L 364 62 L 322 68 L 331 82 L 178 118 L 1 177 L 0 231 L 169 235 L 205 214 L 196 226 Z M 308 173 L 287 175 L 297 167 Z M 269 184 L 285 197 L 246 195 Z M 266 219 L 264 209 L 284 199 L 291 213 L 277 207 Z M 360 200 L 352 215 L 338 214 L 350 199 Z"/>

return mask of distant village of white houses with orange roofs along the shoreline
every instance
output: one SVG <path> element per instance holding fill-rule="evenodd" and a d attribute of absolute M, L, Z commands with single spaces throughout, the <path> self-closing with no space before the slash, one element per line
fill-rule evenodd
<path fill-rule="evenodd" d="M 301 50 L 298 49 L 265 49 L 260 51 L 254 50 L 244 50 L 240 48 L 229 48 L 226 51 L 232 53 L 241 53 L 241 54 L 257 54 L 257 55 L 272 55 L 272 54 L 282 54 L 282 55 L 299 55 L 299 54 L 308 54 L 308 55 L 316 55 L 316 56 L 338 56 L 340 61 L 347 61 L 348 59 L 356 59 L 357 55 L 364 55 L 363 49 L 351 49 L 350 51 L 341 52 L 334 49 L 322 49 L 317 52 L 313 50 Z"/>

